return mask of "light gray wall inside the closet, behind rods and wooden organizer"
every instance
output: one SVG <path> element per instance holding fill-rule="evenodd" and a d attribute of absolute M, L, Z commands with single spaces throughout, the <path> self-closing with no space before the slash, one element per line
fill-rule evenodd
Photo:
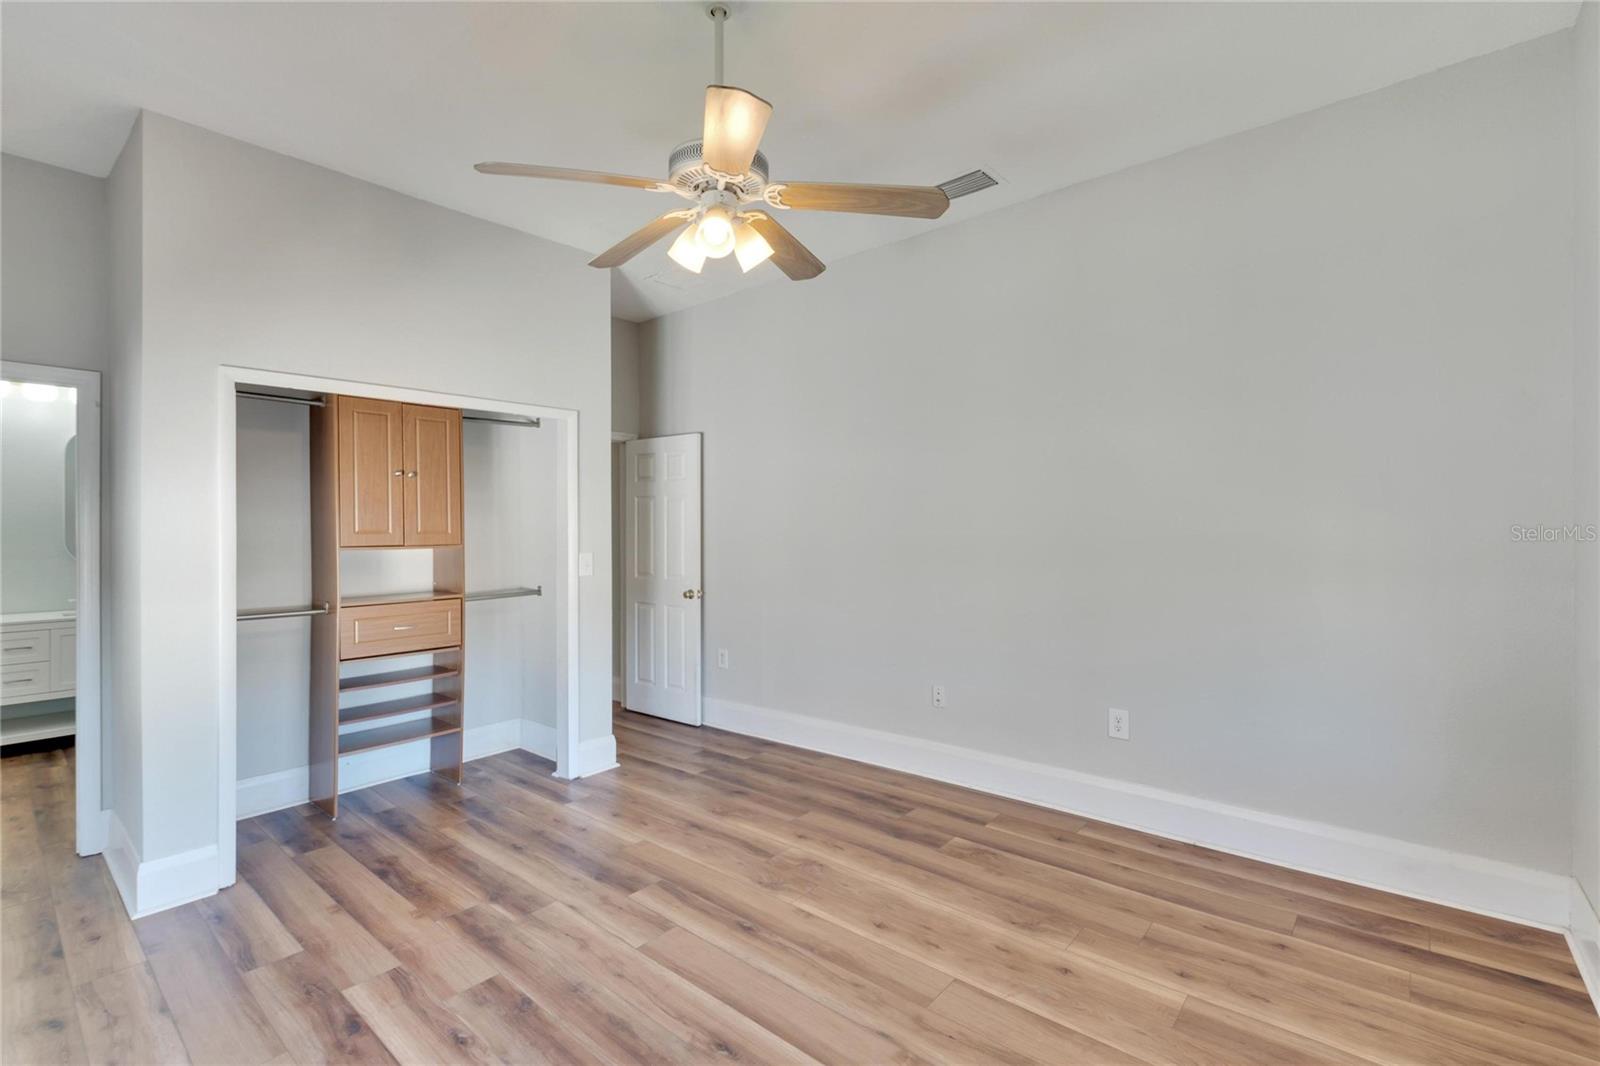
<path fill-rule="evenodd" d="M 302 607 L 310 602 L 309 448 L 307 408 L 261 400 L 238 402 L 242 608 Z M 467 423 L 462 427 L 469 589 L 544 584 L 554 594 L 560 567 L 555 461 L 555 439 L 547 431 L 485 423 Z M 358 562 L 363 579 L 378 587 L 416 584 L 410 576 L 414 552 L 368 551 L 360 554 Z M 424 583 L 426 579 L 424 576 Z M 491 736 L 509 738 L 491 747 L 531 736 L 533 746 L 554 754 L 554 595 L 470 603 L 467 626 L 472 634 L 467 643 L 464 707 L 467 759 L 482 755 L 483 744 Z M 242 783 L 307 765 L 309 635 L 310 627 L 304 618 L 251 621 L 238 627 Z M 517 720 L 531 722 L 533 728 L 493 728 Z M 397 760 L 382 763 L 398 767 L 397 770 L 378 773 L 392 776 L 397 771 L 427 770 L 426 746 L 414 747 L 411 757 L 402 754 Z M 248 813 L 254 812 L 240 808 L 240 815 Z"/>

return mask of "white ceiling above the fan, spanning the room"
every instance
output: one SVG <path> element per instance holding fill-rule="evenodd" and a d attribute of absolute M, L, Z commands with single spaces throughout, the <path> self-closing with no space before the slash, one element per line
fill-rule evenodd
<path fill-rule="evenodd" d="M 1571 26 L 1576 3 L 734 3 L 726 80 L 773 101 L 774 179 L 998 189 L 938 222 L 794 213 L 824 261 Z M 5 3 L 0 147 L 109 173 L 141 107 L 600 251 L 678 202 L 474 173 L 664 176 L 699 134 L 696 3 Z M 626 319 L 792 285 L 664 245 Z M 824 274 L 806 285 L 826 285 Z"/>

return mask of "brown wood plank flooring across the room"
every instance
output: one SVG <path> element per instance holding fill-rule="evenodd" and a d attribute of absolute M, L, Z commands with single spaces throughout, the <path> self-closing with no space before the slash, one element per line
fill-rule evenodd
<path fill-rule="evenodd" d="M 779 744 L 618 714 L 240 823 L 130 922 L 70 751 L 8 757 L 0 1060 L 1600 1061 L 1565 941 Z"/>

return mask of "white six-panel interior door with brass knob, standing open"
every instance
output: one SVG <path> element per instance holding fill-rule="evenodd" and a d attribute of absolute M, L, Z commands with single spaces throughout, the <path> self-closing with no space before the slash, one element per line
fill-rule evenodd
<path fill-rule="evenodd" d="M 699 434 L 622 445 L 622 706 L 699 725 Z"/>

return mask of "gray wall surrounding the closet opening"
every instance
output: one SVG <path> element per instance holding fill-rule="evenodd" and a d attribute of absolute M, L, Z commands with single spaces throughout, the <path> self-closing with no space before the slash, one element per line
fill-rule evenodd
<path fill-rule="evenodd" d="M 205 848 L 216 821 L 214 605 L 221 597 L 219 367 L 322 375 L 579 413 L 579 549 L 597 573 L 579 608 L 584 741 L 610 735 L 610 287 L 584 253 L 146 112 L 131 475 L 115 512 L 136 563 L 118 655 L 138 677 L 146 861 Z M 123 160 L 123 166 L 128 160 Z M 115 176 L 114 176 L 115 181 Z M 118 365 L 118 371 L 122 367 Z M 120 416 L 118 416 L 120 418 Z M 144 634 L 142 645 L 138 634 Z"/>

